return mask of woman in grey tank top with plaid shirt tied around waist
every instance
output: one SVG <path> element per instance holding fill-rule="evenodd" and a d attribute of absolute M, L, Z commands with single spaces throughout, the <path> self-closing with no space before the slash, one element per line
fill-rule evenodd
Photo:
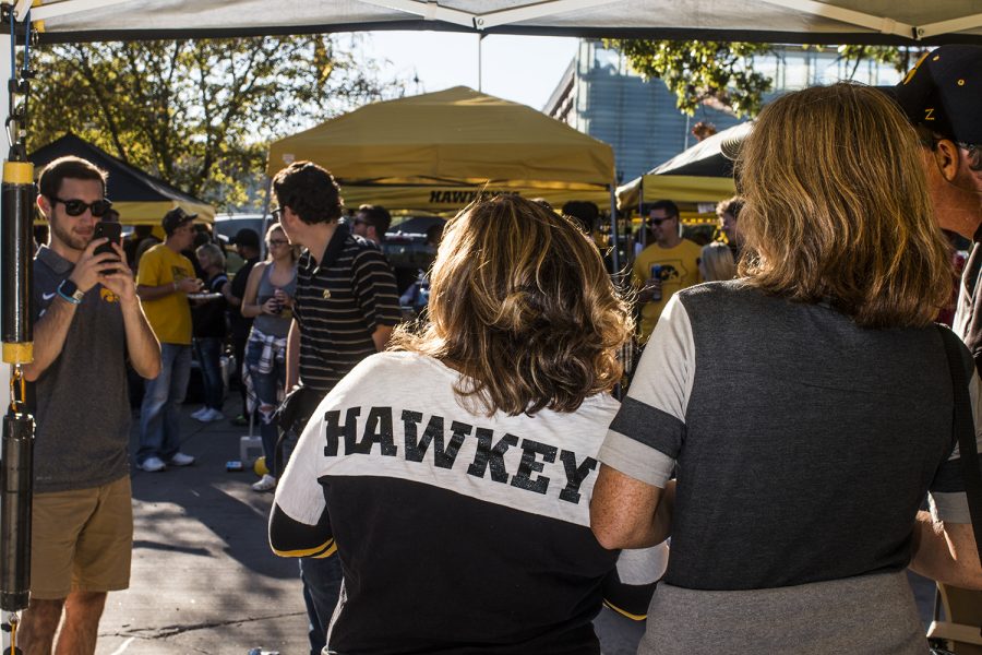
<path fill-rule="evenodd" d="M 253 319 L 242 369 L 246 414 L 259 409 L 260 437 L 268 469 L 252 485 L 254 491 L 272 491 L 279 475 L 276 462 L 279 430 L 273 413 L 285 391 L 286 345 L 297 290 L 297 250 L 278 223 L 266 229 L 266 261 L 259 262 L 249 272 L 241 308 L 243 317 Z"/>

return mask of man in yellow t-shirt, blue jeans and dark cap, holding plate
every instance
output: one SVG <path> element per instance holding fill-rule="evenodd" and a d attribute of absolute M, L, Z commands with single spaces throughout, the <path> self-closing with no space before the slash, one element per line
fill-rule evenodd
<path fill-rule="evenodd" d="M 179 408 L 191 376 L 191 306 L 188 294 L 201 290 L 191 260 L 181 254 L 194 241 L 193 221 L 176 207 L 161 225 L 167 239 L 146 251 L 136 274 L 136 294 L 160 342 L 160 374 L 147 381 L 140 408 L 136 466 L 164 471 L 167 464 L 188 466 L 194 457 L 180 451 Z"/>

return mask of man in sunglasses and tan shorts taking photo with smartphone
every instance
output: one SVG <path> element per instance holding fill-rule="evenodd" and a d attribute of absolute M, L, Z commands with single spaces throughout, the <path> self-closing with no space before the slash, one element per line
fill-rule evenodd
<path fill-rule="evenodd" d="M 143 315 L 122 248 L 95 226 L 109 211 L 106 174 L 61 157 L 38 180 L 50 225 L 34 260 L 36 383 L 31 605 L 19 645 L 27 655 L 95 652 L 106 594 L 130 582 L 130 403 L 125 357 L 143 378 L 160 347 Z"/>

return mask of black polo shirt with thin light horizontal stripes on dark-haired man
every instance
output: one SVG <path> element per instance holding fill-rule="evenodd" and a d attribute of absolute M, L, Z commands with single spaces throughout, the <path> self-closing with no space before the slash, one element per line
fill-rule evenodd
<path fill-rule="evenodd" d="M 300 381 L 330 391 L 375 353 L 372 333 L 399 322 L 399 296 L 385 257 L 338 225 L 319 264 L 300 257 L 294 317 L 300 327 Z"/>

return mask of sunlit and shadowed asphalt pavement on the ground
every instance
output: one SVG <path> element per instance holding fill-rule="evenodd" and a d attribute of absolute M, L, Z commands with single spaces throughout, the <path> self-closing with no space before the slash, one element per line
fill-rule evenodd
<path fill-rule="evenodd" d="M 227 408 L 238 409 L 237 397 Z M 271 493 L 250 488 L 239 458 L 248 428 L 201 424 L 182 409 L 181 450 L 196 462 L 161 473 L 133 471 L 134 543 L 130 588 L 109 594 L 97 655 L 246 655 L 253 648 L 306 655 L 307 615 L 296 560 L 266 543 Z M 131 448 L 139 429 L 134 416 Z M 915 582 L 930 618 L 932 586 Z M 636 650 L 643 623 L 602 610 L 595 621 L 604 655 Z"/>

